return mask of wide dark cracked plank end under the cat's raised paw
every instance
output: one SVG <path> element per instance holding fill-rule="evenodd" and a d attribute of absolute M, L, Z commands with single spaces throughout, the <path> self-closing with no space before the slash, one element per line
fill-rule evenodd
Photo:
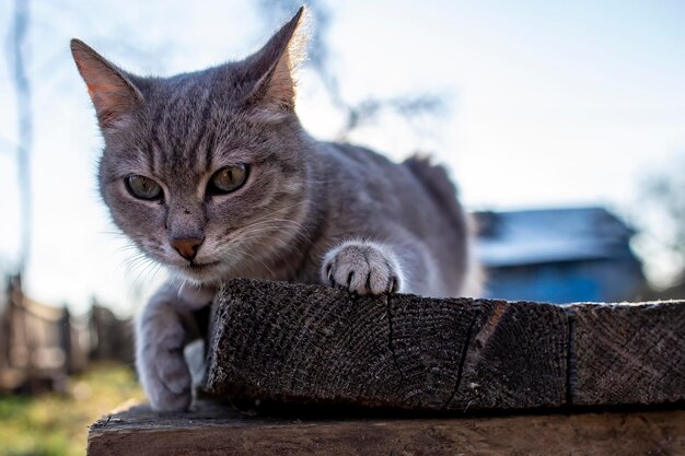
<path fill-rule="evenodd" d="M 236 280 L 213 320 L 217 394 L 431 410 L 566 397 L 566 313 L 548 304 Z"/>

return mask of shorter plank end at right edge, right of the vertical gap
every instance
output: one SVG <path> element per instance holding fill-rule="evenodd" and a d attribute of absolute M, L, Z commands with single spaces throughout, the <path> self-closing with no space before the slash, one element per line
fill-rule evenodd
<path fill-rule="evenodd" d="M 581 304 L 569 311 L 572 404 L 658 404 L 685 398 L 683 302 Z"/>

